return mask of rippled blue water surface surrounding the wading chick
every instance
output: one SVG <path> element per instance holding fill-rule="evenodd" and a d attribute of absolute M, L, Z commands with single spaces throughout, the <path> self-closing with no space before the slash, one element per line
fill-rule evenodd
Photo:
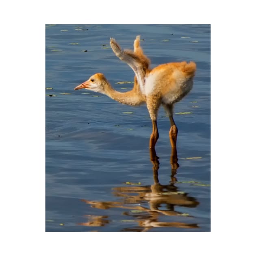
<path fill-rule="evenodd" d="M 148 149 L 145 105 L 74 91 L 98 72 L 116 90 L 132 89 L 133 83 L 117 84 L 134 74 L 109 39 L 132 49 L 136 35 L 151 67 L 197 64 L 193 89 L 174 110 L 190 113 L 174 115 L 179 167 L 163 108 L 157 159 Z M 210 25 L 48 24 L 46 87 L 47 232 L 210 231 Z"/>

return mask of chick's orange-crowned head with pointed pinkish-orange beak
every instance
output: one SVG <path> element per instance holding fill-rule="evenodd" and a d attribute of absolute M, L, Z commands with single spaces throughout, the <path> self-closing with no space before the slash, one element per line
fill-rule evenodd
<path fill-rule="evenodd" d="M 105 76 L 101 73 L 97 73 L 91 76 L 87 81 L 75 87 L 74 90 L 79 90 L 84 88 L 90 91 L 104 93 L 105 87 L 107 85 L 108 85 L 108 81 L 106 80 Z"/>

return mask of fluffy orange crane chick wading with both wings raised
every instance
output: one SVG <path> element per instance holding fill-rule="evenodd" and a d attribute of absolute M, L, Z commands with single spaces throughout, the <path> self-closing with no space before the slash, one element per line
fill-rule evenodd
<path fill-rule="evenodd" d="M 171 128 L 169 137 L 172 148 L 176 147 L 178 129 L 173 119 L 174 103 L 180 101 L 193 86 L 193 76 L 196 65 L 194 62 L 166 63 L 149 69 L 150 61 L 143 54 L 139 45 L 139 36 L 134 42 L 134 52 L 122 51 L 115 39 L 110 40 L 110 45 L 116 56 L 126 62 L 135 72 L 135 85 L 131 91 L 121 93 L 115 91 L 105 76 L 101 73 L 94 74 L 89 80 L 75 87 L 106 94 L 108 97 L 122 104 L 137 106 L 147 104 L 152 120 L 152 134 L 150 148 L 154 148 L 158 140 L 157 112 L 162 104 L 169 115 Z"/>

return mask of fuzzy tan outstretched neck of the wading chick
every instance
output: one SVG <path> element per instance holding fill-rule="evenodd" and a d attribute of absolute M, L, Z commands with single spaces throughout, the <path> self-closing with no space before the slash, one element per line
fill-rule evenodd
<path fill-rule="evenodd" d="M 107 82 L 104 93 L 111 99 L 116 100 L 122 104 L 138 106 L 145 103 L 145 96 L 142 95 L 137 83 L 131 91 L 119 92 L 113 89 L 110 83 Z"/>

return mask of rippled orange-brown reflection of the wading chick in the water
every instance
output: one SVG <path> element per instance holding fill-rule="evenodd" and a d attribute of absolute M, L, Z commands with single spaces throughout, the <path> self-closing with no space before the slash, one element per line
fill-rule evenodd
<path fill-rule="evenodd" d="M 119 202 L 100 202 L 82 200 L 93 208 L 108 210 L 111 208 L 129 209 L 122 214 L 135 218 L 138 226 L 125 228 L 122 231 L 148 231 L 154 227 L 175 227 L 175 228 L 198 228 L 195 223 L 185 223 L 178 221 L 159 221 L 159 217 L 165 216 L 188 216 L 186 213 L 176 211 L 176 206 L 196 207 L 199 202 L 194 197 L 188 196 L 187 193 L 179 191 L 176 187 L 176 169 L 178 168 L 178 158 L 176 148 L 171 150 L 171 180 L 167 185 L 160 184 L 158 180 L 159 161 L 155 150 L 150 150 L 150 160 L 153 165 L 154 184 L 151 186 L 126 186 L 113 188 L 113 194 L 122 198 Z M 145 206 L 145 202 L 148 203 Z M 108 216 L 89 216 L 89 221 L 79 223 L 83 226 L 105 226 L 110 221 Z M 173 220 L 173 219 L 172 219 Z"/>

